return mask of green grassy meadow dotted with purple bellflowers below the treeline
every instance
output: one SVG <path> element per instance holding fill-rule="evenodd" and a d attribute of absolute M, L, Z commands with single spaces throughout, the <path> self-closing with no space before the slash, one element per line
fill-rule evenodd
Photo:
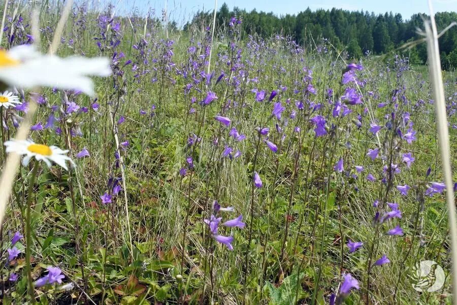
<path fill-rule="evenodd" d="M 15 32 L 5 32 L 3 47 L 27 42 L 32 8 L 23 5 L 8 6 L 8 16 L 19 7 L 23 20 L 7 18 Z M 43 50 L 61 10 L 40 8 Z M 27 202 L 32 280 L 57 266 L 63 284 L 73 284 L 33 289 L 44 304 L 321 304 L 332 294 L 348 304 L 451 302 L 446 205 L 432 184 L 443 176 L 426 67 L 410 66 L 402 53 L 356 61 L 325 40 L 241 39 L 242 22 L 229 21 L 211 39 L 210 24 L 167 33 L 154 15 L 74 6 L 55 52 L 107 56 L 113 74 L 94 80 L 96 99 L 51 88 L 42 99 L 35 95 L 30 138 L 69 149 L 76 166 L 40 163 L 36 179 L 29 179 L 33 162 L 20 167 L 0 245 L 5 303 L 33 302 L 24 240 L 15 245 L 17 257 L 7 252 L 14 232 L 24 233 Z M 443 78 L 453 165 L 455 75 Z M 14 92 L 22 102 L 33 96 Z M 208 92 L 217 99 L 205 104 Z M 2 115 L 6 141 L 24 112 Z M 37 128 L 50 117 L 52 125 Z M 375 134 L 370 124 L 381 129 Z M 89 156 L 78 158 L 83 148 Z M 375 148 L 372 159 L 367 153 Z M 405 154 L 415 159 L 410 166 Z M 397 187 L 405 185 L 402 195 Z M 104 194 L 110 202 L 102 202 Z M 214 201 L 233 212 L 218 212 Z M 390 216 L 397 209 L 401 218 Z M 217 233 L 204 221 L 211 215 L 222 217 Z M 244 227 L 222 226 L 239 215 Z M 403 235 L 386 234 L 397 225 Z M 233 236 L 232 250 L 220 235 Z M 349 253 L 349 240 L 364 245 Z M 383 255 L 390 262 L 376 265 Z M 423 292 L 413 289 L 423 260 L 445 271 L 438 291 L 426 291 L 433 277 Z M 345 290 L 348 274 L 358 285 Z"/>

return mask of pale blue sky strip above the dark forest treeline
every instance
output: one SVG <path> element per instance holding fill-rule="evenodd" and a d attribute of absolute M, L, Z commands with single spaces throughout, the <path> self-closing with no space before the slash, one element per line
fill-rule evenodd
<path fill-rule="evenodd" d="M 214 0 L 112 0 L 119 12 L 139 8 L 140 13 L 154 8 L 160 16 L 161 10 L 167 5 L 170 19 L 183 24 L 193 13 L 199 10 L 212 10 Z M 409 19 L 415 13 L 427 13 L 427 0 L 218 0 L 217 7 L 226 3 L 230 9 L 239 7 L 251 11 L 274 12 L 277 15 L 296 14 L 306 10 L 341 8 L 350 11 L 369 11 L 375 13 L 400 13 L 403 19 Z M 433 0 L 435 12 L 457 11 L 457 0 Z"/>

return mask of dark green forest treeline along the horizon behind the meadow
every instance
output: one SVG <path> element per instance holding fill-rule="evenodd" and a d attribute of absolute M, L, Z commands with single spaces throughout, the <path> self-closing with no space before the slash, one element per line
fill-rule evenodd
<path fill-rule="evenodd" d="M 278 16 L 273 12 L 247 12 L 239 8 L 231 11 L 225 3 L 216 15 L 217 28 L 227 27 L 233 16 L 242 20 L 243 34 L 257 34 L 266 38 L 281 33 L 302 45 L 310 37 L 315 41 L 325 38 L 339 49 L 345 48 L 348 54 L 355 58 L 363 56 L 368 51 L 373 54 L 385 54 L 396 50 L 406 42 L 419 39 L 417 28 L 423 28 L 421 14 L 414 14 L 409 20 L 404 20 L 401 14 L 392 12 L 376 15 L 367 11 L 350 12 L 335 8 L 312 11 L 308 8 L 297 14 Z M 438 31 L 457 21 L 455 12 L 437 13 L 435 17 Z M 200 11 L 184 26 L 184 30 L 193 24 L 210 24 L 212 18 L 212 11 Z M 440 38 L 439 43 L 443 68 L 457 68 L 457 27 L 449 29 Z M 410 49 L 408 56 L 413 64 L 425 63 L 425 44 Z"/>

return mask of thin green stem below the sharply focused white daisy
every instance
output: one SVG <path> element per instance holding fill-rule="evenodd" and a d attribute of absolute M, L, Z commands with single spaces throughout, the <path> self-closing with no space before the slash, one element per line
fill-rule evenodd
<path fill-rule="evenodd" d="M 25 212 L 25 272 L 27 274 L 27 293 L 30 296 L 30 302 L 35 303 L 35 290 L 34 283 L 31 277 L 30 265 L 30 252 L 31 252 L 31 202 L 32 194 L 34 192 L 35 178 L 37 177 L 39 162 L 34 160 L 34 168 L 32 169 L 31 176 L 28 180 L 28 193 L 27 193 L 27 209 Z"/>

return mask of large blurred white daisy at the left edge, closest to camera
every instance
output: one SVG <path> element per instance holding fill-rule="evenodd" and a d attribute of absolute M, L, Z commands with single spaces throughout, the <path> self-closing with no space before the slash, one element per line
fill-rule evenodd
<path fill-rule="evenodd" d="M 41 54 L 31 45 L 16 46 L 8 51 L 0 49 L 0 81 L 10 86 L 76 89 L 93 96 L 93 83 L 88 76 L 110 74 L 110 62 L 105 57 L 60 58 Z"/>

